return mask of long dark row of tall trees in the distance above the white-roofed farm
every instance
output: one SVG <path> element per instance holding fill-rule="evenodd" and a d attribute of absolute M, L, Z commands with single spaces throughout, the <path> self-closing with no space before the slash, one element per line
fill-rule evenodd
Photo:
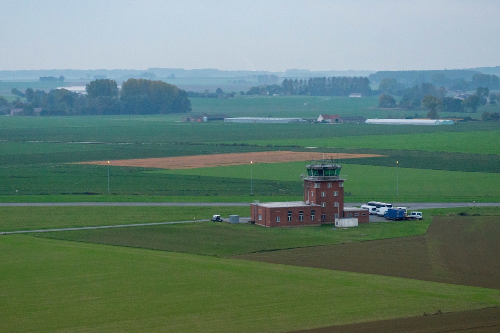
<path fill-rule="evenodd" d="M 371 89 L 367 77 L 311 77 L 309 79 L 284 79 L 281 85 L 260 85 L 251 87 L 247 95 L 309 95 L 348 96 L 360 93 L 370 96 Z"/>

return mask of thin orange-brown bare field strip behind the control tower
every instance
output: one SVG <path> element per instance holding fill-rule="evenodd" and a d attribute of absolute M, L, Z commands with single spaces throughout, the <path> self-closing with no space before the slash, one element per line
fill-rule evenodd
<path fill-rule="evenodd" d="M 371 154 L 335 154 L 335 159 L 381 157 Z M 191 169 L 225 165 L 253 163 L 280 163 L 322 159 L 323 154 L 311 154 L 296 151 L 265 151 L 256 153 L 214 154 L 180 157 L 140 158 L 131 160 L 113 160 L 109 165 L 161 169 Z M 107 165 L 107 161 L 80 162 L 80 164 Z"/>

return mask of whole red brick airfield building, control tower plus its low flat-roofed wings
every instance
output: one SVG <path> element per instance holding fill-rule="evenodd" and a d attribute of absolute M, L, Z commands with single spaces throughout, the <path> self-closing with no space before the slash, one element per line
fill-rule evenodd
<path fill-rule="evenodd" d="M 312 226 L 335 223 L 338 218 L 369 222 L 366 210 L 344 207 L 340 165 L 333 161 L 311 161 L 305 168 L 304 201 L 254 202 L 250 204 L 250 221 L 264 227 Z"/>

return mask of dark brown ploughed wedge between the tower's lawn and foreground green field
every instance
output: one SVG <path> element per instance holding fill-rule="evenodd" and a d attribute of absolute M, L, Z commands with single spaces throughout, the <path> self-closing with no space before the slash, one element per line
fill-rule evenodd
<path fill-rule="evenodd" d="M 500 289 L 499 239 L 499 217 L 434 217 L 423 236 L 234 258 Z"/>

